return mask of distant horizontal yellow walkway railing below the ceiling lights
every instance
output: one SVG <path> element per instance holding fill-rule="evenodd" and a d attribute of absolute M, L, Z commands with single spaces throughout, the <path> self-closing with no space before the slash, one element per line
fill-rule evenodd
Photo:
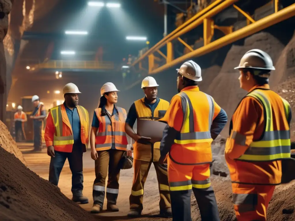
<path fill-rule="evenodd" d="M 32 65 L 31 70 L 36 69 L 114 69 L 113 62 L 99 61 L 67 61 L 67 60 L 49 60 L 47 62 Z"/>

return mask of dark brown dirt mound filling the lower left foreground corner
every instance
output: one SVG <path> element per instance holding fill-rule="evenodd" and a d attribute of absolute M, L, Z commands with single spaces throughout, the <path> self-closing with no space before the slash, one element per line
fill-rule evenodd
<path fill-rule="evenodd" d="M 0 220 L 97 220 L 0 148 Z"/>

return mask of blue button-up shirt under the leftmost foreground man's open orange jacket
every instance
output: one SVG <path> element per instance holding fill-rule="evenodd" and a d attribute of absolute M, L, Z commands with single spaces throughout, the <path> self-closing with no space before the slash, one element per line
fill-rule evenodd
<path fill-rule="evenodd" d="M 81 141 L 81 121 L 80 121 L 80 117 L 78 114 L 78 110 L 77 107 L 74 107 L 73 110 L 71 110 L 70 108 L 67 107 L 67 105 L 65 105 L 65 103 L 63 103 L 63 105 L 65 106 L 65 111 L 67 112 L 71 127 L 72 127 L 72 131 L 73 131 L 73 137 L 74 137 L 74 145 L 81 145 L 82 141 Z"/>

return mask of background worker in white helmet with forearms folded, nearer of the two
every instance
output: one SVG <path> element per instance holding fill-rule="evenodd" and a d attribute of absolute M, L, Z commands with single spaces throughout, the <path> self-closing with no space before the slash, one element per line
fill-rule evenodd
<path fill-rule="evenodd" d="M 33 151 L 42 151 L 43 141 L 42 141 L 42 129 L 43 129 L 43 120 L 46 117 L 45 106 L 40 103 L 40 98 L 37 95 L 32 97 L 32 103 L 35 107 L 32 115 L 30 116 L 33 119 L 33 131 L 34 131 L 34 150 Z"/>

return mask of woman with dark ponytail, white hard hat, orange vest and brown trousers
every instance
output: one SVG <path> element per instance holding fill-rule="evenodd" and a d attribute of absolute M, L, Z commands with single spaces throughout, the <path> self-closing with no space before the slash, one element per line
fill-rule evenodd
<path fill-rule="evenodd" d="M 119 193 L 119 162 L 127 150 L 127 137 L 124 129 L 126 110 L 115 104 L 118 102 L 116 86 L 105 83 L 100 90 L 99 106 L 94 110 L 90 132 L 91 158 L 95 160 L 95 180 L 93 184 L 93 207 L 91 213 L 102 211 L 105 195 L 106 209 L 119 211 L 117 197 Z M 132 155 L 132 152 L 128 151 Z"/>

